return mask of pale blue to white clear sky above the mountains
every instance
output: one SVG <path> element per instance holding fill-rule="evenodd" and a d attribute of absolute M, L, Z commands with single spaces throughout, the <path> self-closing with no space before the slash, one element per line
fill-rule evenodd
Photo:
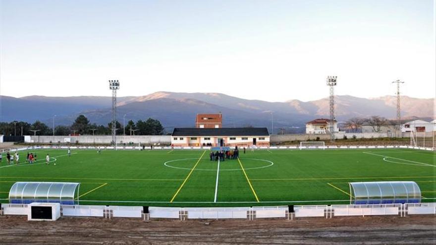
<path fill-rule="evenodd" d="M 435 98 L 436 0 L 0 0 L 0 95 Z"/>

